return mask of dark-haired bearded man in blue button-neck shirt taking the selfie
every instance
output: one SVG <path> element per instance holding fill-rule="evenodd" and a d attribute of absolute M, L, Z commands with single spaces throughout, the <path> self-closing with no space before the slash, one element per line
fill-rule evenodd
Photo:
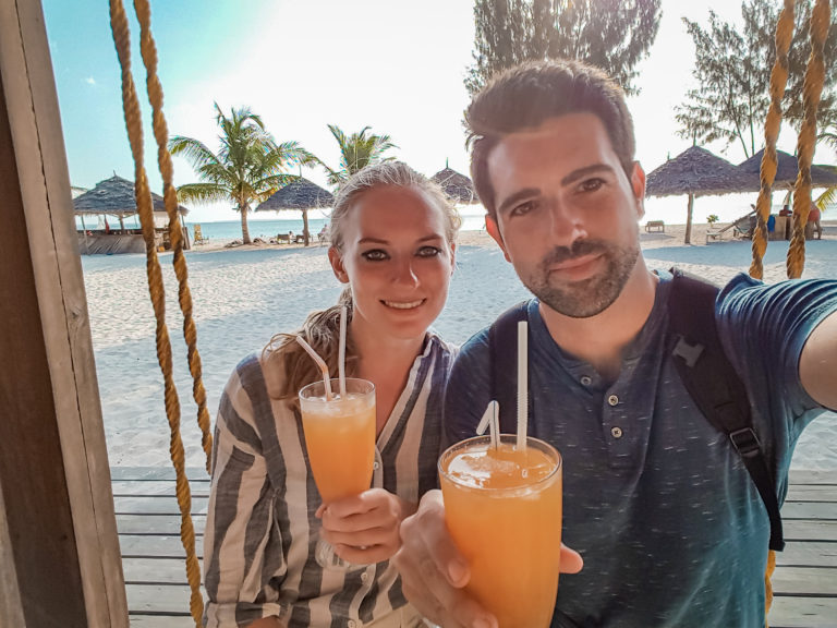
<path fill-rule="evenodd" d="M 645 174 L 621 90 L 574 61 L 527 63 L 478 94 L 466 120 L 487 230 L 536 297 L 530 433 L 562 454 L 563 540 L 584 559 L 567 576 L 580 561 L 562 555 L 553 626 L 764 626 L 768 518 L 674 364 L 671 276 L 640 252 Z M 826 280 L 739 276 L 716 303 L 780 500 L 800 432 L 837 408 L 835 311 L 837 281 Z M 484 330 L 453 366 L 448 442 L 474 434 L 489 367 Z M 496 626 L 462 590 L 468 565 L 438 492 L 401 536 L 396 564 L 422 613 L 446 628 Z"/>

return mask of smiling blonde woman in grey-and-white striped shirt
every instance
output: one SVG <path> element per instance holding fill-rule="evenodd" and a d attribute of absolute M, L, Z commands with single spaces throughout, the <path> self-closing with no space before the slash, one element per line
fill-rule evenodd
<path fill-rule="evenodd" d="M 440 189 L 404 164 L 366 168 L 341 186 L 328 258 L 348 288 L 299 334 L 336 374 L 340 306 L 348 305 L 347 375 L 376 388 L 373 487 L 322 507 L 296 399 L 322 375 L 295 335 L 278 335 L 242 361 L 216 422 L 204 538 L 208 627 L 421 625 L 389 558 L 401 520 L 436 485 L 453 355 L 428 327 L 445 305 L 458 228 Z M 322 568 L 318 534 L 364 567 Z"/>

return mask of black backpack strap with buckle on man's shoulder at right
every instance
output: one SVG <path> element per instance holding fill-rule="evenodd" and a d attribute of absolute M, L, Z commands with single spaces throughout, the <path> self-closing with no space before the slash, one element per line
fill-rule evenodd
<path fill-rule="evenodd" d="M 672 355 L 680 378 L 706 420 L 729 437 L 741 456 L 771 519 L 771 550 L 781 551 L 785 540 L 773 474 L 753 430 L 747 387 L 718 337 L 718 289 L 677 268 L 671 274 L 669 333 L 676 341 Z"/>

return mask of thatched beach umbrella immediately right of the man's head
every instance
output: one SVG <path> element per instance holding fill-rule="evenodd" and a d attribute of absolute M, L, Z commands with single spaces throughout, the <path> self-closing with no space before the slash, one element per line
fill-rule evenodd
<path fill-rule="evenodd" d="M 757 184 L 755 188 L 748 189 L 748 181 L 749 178 L 726 159 L 713 155 L 700 146 L 692 146 L 648 173 L 645 195 L 687 194 L 689 196 L 684 238 L 686 243 L 689 244 L 692 238 L 692 214 L 695 196 L 759 190 Z"/>

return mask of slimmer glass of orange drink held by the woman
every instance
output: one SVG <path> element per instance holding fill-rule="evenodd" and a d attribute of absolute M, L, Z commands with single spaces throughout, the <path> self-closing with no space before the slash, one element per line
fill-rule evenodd
<path fill-rule="evenodd" d="M 345 381 L 340 397 L 326 400 L 323 382 L 300 390 L 300 410 L 311 470 L 325 504 L 359 495 L 372 483 L 375 463 L 375 386 L 366 379 Z"/>

